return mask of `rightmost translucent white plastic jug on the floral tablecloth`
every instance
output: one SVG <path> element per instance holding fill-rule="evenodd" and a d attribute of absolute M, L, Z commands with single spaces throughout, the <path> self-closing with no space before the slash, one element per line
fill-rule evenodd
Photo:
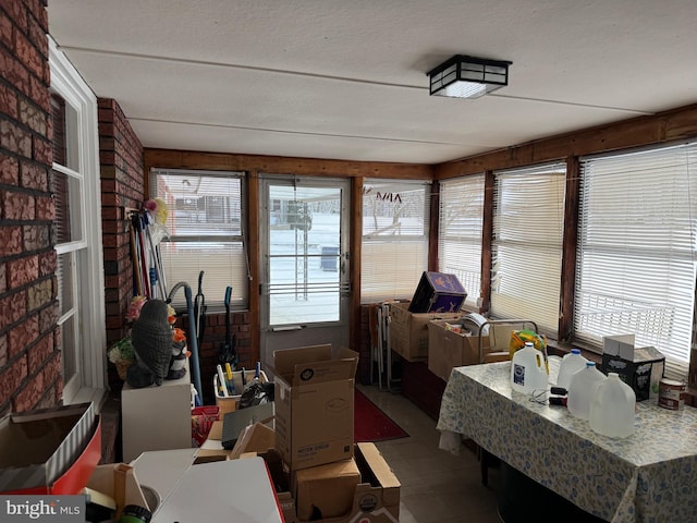
<path fill-rule="evenodd" d="M 609 373 L 600 381 L 590 402 L 590 428 L 611 438 L 626 438 L 634 433 L 636 394 L 632 387 Z"/>

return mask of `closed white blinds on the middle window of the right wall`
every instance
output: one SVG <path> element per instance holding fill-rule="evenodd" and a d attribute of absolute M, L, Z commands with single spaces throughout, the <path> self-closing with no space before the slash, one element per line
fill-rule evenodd
<path fill-rule="evenodd" d="M 496 172 L 491 308 L 555 336 L 566 165 Z"/>

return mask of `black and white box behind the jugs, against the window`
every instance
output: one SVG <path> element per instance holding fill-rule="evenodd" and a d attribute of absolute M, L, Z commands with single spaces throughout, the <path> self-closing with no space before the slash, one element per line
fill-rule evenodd
<path fill-rule="evenodd" d="M 616 373 L 632 386 L 636 401 L 658 398 L 665 356 L 652 346 L 634 346 L 634 335 L 607 336 L 602 343 L 602 370 Z"/>

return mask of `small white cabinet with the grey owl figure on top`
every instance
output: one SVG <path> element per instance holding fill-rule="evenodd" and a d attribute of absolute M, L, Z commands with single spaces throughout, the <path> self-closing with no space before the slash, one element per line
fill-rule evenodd
<path fill-rule="evenodd" d="M 159 387 L 121 391 L 123 461 L 129 463 L 147 450 L 192 447 L 192 390 L 188 367 L 181 379 Z"/>

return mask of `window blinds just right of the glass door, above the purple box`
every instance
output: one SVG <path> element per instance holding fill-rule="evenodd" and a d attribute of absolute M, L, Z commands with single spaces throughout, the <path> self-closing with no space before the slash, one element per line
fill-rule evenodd
<path fill-rule="evenodd" d="M 428 269 L 430 182 L 366 180 L 360 301 L 408 300 Z"/>

